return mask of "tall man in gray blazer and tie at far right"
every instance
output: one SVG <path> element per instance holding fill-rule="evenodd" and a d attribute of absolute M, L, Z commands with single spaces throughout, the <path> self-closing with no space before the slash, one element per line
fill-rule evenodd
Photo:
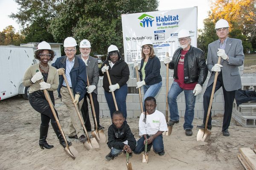
<path fill-rule="evenodd" d="M 204 121 L 203 124 L 197 127 L 204 129 L 214 75 L 215 72 L 219 72 L 215 92 L 222 86 L 225 103 L 222 133 L 224 136 L 229 136 L 228 127 L 231 120 L 235 91 L 242 87 L 238 67 L 244 63 L 244 53 L 242 41 L 228 37 L 229 24 L 227 20 L 218 20 L 215 24 L 215 30 L 219 39 L 208 45 L 207 67 L 211 76 L 207 84 L 207 89 L 204 92 Z M 221 57 L 221 64 L 218 64 L 218 57 Z M 212 128 L 211 113 L 207 128 Z"/>

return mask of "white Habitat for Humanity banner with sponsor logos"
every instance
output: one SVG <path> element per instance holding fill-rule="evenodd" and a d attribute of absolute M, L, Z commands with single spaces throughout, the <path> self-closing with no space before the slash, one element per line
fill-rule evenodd
<path fill-rule="evenodd" d="M 122 31 L 125 62 L 141 61 L 141 43 L 149 39 L 154 45 L 155 55 L 163 61 L 166 52 L 172 57 L 180 46 L 178 32 L 187 29 L 191 45 L 197 46 L 197 7 L 169 11 L 122 14 Z"/>

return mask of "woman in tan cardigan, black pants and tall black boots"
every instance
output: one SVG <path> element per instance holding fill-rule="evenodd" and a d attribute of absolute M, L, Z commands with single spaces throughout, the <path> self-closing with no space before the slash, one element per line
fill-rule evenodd
<path fill-rule="evenodd" d="M 66 147 L 65 141 L 43 91 L 44 89 L 47 89 L 52 103 L 54 104 L 53 91 L 58 88 L 58 72 L 57 69 L 48 64 L 54 58 L 54 52 L 49 43 L 43 41 L 38 44 L 38 49 L 35 51 L 34 57 L 39 60 L 39 63 L 30 66 L 26 70 L 23 78 L 23 85 L 30 86 L 29 103 L 33 109 L 41 113 L 39 146 L 41 149 L 51 149 L 53 147 L 53 145 L 49 145 L 46 141 L 49 121 L 51 121 L 52 128 L 55 131 L 60 144 L 63 147 Z M 40 82 L 42 78 L 44 78 L 44 81 Z M 58 115 L 56 110 L 55 112 Z"/>

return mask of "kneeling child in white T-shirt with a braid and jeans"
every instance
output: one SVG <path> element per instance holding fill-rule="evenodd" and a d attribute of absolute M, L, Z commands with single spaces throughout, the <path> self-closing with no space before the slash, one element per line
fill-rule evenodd
<path fill-rule="evenodd" d="M 162 112 L 156 110 L 157 102 L 154 97 L 145 98 L 146 113 L 140 115 L 139 120 L 139 135 L 142 136 L 137 141 L 137 147 L 134 150 L 135 154 L 140 154 L 144 151 L 145 141 L 148 141 L 148 150 L 153 145 L 153 150 L 160 156 L 164 155 L 163 135 L 164 131 L 168 130 L 165 116 Z"/>

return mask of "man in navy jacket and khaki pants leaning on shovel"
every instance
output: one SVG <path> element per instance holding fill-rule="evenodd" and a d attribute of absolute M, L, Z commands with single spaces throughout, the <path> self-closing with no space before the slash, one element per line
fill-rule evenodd
<path fill-rule="evenodd" d="M 70 112 L 70 122 L 69 122 L 69 138 L 77 138 L 80 142 L 85 142 L 87 138 L 84 135 L 84 131 L 81 127 L 81 122 L 76 113 L 76 108 L 74 102 L 81 109 L 84 101 L 84 95 L 86 92 L 86 66 L 85 63 L 76 56 L 76 40 L 73 37 L 67 37 L 64 40 L 64 52 L 66 55 L 57 58 L 55 63 L 52 64 L 59 74 L 59 86 L 58 94 L 61 97 L 63 103 L 67 106 Z M 63 75 L 67 77 L 67 83 L 75 96 L 72 103 L 70 93 L 67 89 L 67 84 L 64 81 Z"/>

